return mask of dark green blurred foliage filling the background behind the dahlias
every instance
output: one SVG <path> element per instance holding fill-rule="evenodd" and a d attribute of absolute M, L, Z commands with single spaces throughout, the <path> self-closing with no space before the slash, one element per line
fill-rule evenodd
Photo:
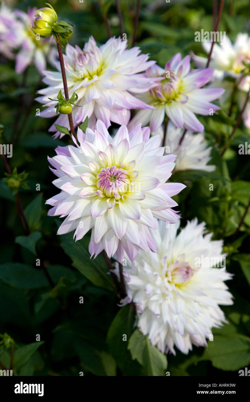
<path fill-rule="evenodd" d="M 71 45 L 83 47 L 90 35 L 98 45 L 106 42 L 103 15 L 107 15 L 112 35 L 120 35 L 115 0 L 102 0 L 102 11 L 95 0 L 51 0 L 59 19 L 75 25 Z M 43 7 L 41 0 L 8 1 L 26 11 L 28 6 Z M 124 33 L 131 46 L 134 32 L 135 0 L 120 1 Z M 164 67 L 178 51 L 204 55 L 195 31 L 211 31 L 213 2 L 205 0 L 142 0 L 136 45 Z M 234 40 L 237 33 L 250 31 L 248 0 L 226 0 L 220 31 Z M 250 211 L 234 236 L 250 197 L 250 158 L 238 154 L 238 145 L 248 142 L 250 131 L 241 124 L 224 158 L 220 148 L 227 142 L 238 117 L 234 105 L 232 119 L 225 114 L 201 118 L 205 134 L 213 145 L 214 173 L 177 172 L 173 180 L 187 188 L 175 199 L 182 213 L 182 226 L 197 216 L 205 221 L 214 239 L 224 238 L 228 252 L 227 270 L 234 273 L 228 283 L 234 294 L 233 306 L 223 308 L 228 324 L 213 330 L 214 340 L 207 349 L 194 347 L 185 356 L 166 358 L 145 337 L 134 332 L 132 306 L 120 308 L 114 285 L 102 256 L 89 259 L 88 236 L 75 243 L 72 234 L 57 236 L 59 219 L 47 216 L 45 200 L 55 194 L 54 179 L 47 156 L 54 156 L 57 145 L 70 142 L 68 136 L 53 139 L 48 128 L 53 119 L 36 116 L 41 107 L 33 99 L 43 87 L 41 77 L 30 66 L 23 74 L 14 71 L 14 62 L 1 56 L 0 123 L 2 143 L 13 144 L 11 169 L 28 172 L 30 189 L 20 189 L 20 198 L 32 233 L 24 236 L 16 213 L 14 196 L 0 181 L 2 240 L 0 243 L 0 361 L 16 375 L 238 375 L 250 362 Z M 229 104 L 223 105 L 228 113 Z M 215 116 L 214 116 L 215 117 Z M 114 125 L 115 127 L 115 125 Z M 4 166 L 0 164 L 4 177 Z M 209 191 L 209 184 L 213 191 Z M 37 191 L 37 184 L 40 191 Z M 49 286 L 43 260 L 53 286 Z M 83 299 L 81 299 L 83 297 Z M 80 301 L 83 301 L 81 303 Z M 133 333 L 134 332 L 134 333 Z M 4 335 L 8 334 L 8 335 Z M 37 335 L 40 342 L 37 342 Z M 126 334 L 127 341 L 123 341 Z M 133 334 L 133 336 L 131 336 Z M 9 338 L 9 336 L 11 338 Z M 142 336 L 142 338 L 141 338 Z M 137 351 L 140 343 L 143 350 Z M 11 351 L 14 357 L 11 357 Z M 143 352 L 143 353 L 142 353 Z M 154 357 L 154 363 L 150 357 Z M 132 360 L 133 357 L 133 360 Z"/>

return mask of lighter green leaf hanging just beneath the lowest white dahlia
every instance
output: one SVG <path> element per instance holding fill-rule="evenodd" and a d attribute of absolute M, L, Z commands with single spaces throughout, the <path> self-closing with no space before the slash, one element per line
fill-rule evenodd
<path fill-rule="evenodd" d="M 167 369 L 167 357 L 155 346 L 152 346 L 148 336 L 143 335 L 137 328 L 132 334 L 128 349 L 132 359 L 146 366 L 149 376 L 164 376 Z"/>

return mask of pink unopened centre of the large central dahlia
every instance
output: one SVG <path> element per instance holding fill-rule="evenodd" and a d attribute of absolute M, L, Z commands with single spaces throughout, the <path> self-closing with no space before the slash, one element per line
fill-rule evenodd
<path fill-rule="evenodd" d="M 129 174 L 117 166 L 102 168 L 97 175 L 97 188 L 107 197 L 118 197 L 125 194 L 130 186 Z"/>

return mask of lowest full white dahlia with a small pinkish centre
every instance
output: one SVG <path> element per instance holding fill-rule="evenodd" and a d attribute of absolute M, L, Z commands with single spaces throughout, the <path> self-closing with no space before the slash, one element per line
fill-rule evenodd
<path fill-rule="evenodd" d="M 158 230 L 150 229 L 158 253 L 139 250 L 134 263 L 123 267 L 124 304 L 135 303 L 137 326 L 152 345 L 174 355 L 174 346 L 186 354 L 192 344 L 207 346 L 212 328 L 226 322 L 219 305 L 233 304 L 224 283 L 232 275 L 225 271 L 222 240 L 203 235 L 205 223 L 197 218 L 177 235 L 178 228 L 159 222 Z"/>

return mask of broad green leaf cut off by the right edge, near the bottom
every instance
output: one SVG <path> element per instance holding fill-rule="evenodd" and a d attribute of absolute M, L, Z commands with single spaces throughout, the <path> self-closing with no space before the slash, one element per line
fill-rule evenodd
<path fill-rule="evenodd" d="M 208 343 L 202 360 L 211 360 L 213 367 L 236 371 L 250 363 L 250 338 L 237 333 L 215 335 Z"/>

